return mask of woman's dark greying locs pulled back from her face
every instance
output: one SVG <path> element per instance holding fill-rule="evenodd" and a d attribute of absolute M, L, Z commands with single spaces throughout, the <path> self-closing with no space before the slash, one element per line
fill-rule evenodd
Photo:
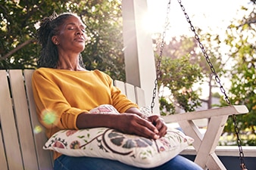
<path fill-rule="evenodd" d="M 59 26 L 70 16 L 76 16 L 76 14 L 63 13 L 58 15 L 54 12 L 50 17 L 45 17 L 40 21 L 40 27 L 36 32 L 39 44 L 42 46 L 39 60 L 37 60 L 38 67 L 57 68 L 58 48 L 57 45 L 52 42 L 52 36 L 58 34 Z M 81 54 L 80 65 L 83 66 Z"/>

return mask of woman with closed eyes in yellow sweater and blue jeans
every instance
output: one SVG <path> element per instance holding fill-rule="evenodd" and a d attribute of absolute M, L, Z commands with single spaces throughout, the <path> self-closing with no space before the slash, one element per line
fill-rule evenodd
<path fill-rule="evenodd" d="M 82 66 L 80 53 L 85 48 L 86 26 L 75 14 L 53 14 L 45 17 L 38 29 L 42 45 L 39 69 L 33 73 L 33 94 L 39 121 L 48 138 L 61 129 L 107 127 L 127 134 L 158 139 L 167 133 L 159 116 L 142 117 L 133 104 L 115 88 L 112 79 L 99 70 Z M 89 113 L 101 104 L 111 104 L 121 114 Z M 45 110 L 47 110 L 45 112 Z M 55 113 L 56 119 L 45 122 L 45 113 Z M 54 153 L 55 170 L 123 169 L 139 170 L 110 159 L 72 157 Z M 152 169 L 201 169 L 182 156 Z"/>

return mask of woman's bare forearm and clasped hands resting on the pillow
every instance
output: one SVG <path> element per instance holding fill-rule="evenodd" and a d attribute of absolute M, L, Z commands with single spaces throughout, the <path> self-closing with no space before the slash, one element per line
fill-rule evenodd
<path fill-rule="evenodd" d="M 136 134 L 145 138 L 158 139 L 167 133 L 167 126 L 158 115 L 142 118 L 135 107 L 120 114 L 81 113 L 77 116 L 77 128 L 108 127 L 126 134 Z"/>

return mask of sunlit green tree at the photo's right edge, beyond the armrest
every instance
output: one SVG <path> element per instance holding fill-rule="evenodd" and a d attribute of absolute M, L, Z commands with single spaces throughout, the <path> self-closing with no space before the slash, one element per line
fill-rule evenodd
<path fill-rule="evenodd" d="M 256 145 L 256 5 L 252 1 L 251 12 L 241 20 L 236 20 L 226 31 L 226 44 L 229 45 L 229 55 L 233 58 L 231 75 L 231 88 L 229 99 L 232 104 L 245 104 L 249 113 L 236 116 L 240 130 L 248 129 L 248 134 L 254 134 L 254 138 L 246 138 L 245 143 Z M 249 11 L 248 8 L 242 8 Z M 226 105 L 224 101 L 223 105 Z M 233 132 L 233 119 L 229 119 L 225 131 Z"/>

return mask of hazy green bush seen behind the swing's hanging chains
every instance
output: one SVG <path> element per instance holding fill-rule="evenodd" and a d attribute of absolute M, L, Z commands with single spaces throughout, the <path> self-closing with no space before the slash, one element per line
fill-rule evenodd
<path fill-rule="evenodd" d="M 226 60 L 223 60 L 221 54 L 220 37 L 218 35 L 211 35 L 208 32 L 202 32 L 201 29 L 198 29 L 197 34 L 200 37 L 205 54 L 202 52 L 195 37 L 188 36 L 173 37 L 170 39 L 170 42 L 165 44 L 162 51 L 162 56 L 164 57 L 161 61 L 161 77 L 159 78 L 161 84 L 159 83 L 159 87 L 164 85 L 164 89 L 168 88 L 171 91 L 171 95 L 161 96 L 160 103 L 161 107 L 164 107 L 167 111 L 172 110 L 170 113 L 175 113 L 175 106 L 180 107 L 186 112 L 194 111 L 197 107 L 201 106 L 201 102 L 206 102 L 208 109 L 211 109 L 213 107 L 211 102 L 212 89 L 219 87 L 212 70 L 219 77 L 225 73 L 224 65 Z M 161 54 L 160 48 L 158 48 L 161 45 L 158 44 L 161 43 L 162 39 L 159 38 L 159 35 L 156 34 L 154 36 L 156 37 L 154 41 L 156 55 Z M 205 58 L 206 54 L 208 55 L 208 60 Z M 208 62 L 211 62 L 211 67 Z M 158 60 L 156 63 L 158 63 Z M 179 67 L 179 65 L 182 65 L 182 67 Z M 180 76 L 177 76 L 177 74 L 180 74 Z M 180 79 L 181 76 L 183 76 L 183 79 Z M 173 85 L 173 82 L 176 82 L 176 85 Z M 208 99 L 199 98 L 201 88 L 192 88 L 198 82 L 199 84 L 201 82 L 208 82 Z M 178 91 L 180 89 L 189 89 L 190 92 L 179 94 Z M 166 98 L 169 98 L 169 101 L 165 100 Z M 181 100 L 182 98 L 183 100 Z M 169 106 L 167 106 L 168 104 Z M 162 113 L 164 114 L 164 112 Z"/>

